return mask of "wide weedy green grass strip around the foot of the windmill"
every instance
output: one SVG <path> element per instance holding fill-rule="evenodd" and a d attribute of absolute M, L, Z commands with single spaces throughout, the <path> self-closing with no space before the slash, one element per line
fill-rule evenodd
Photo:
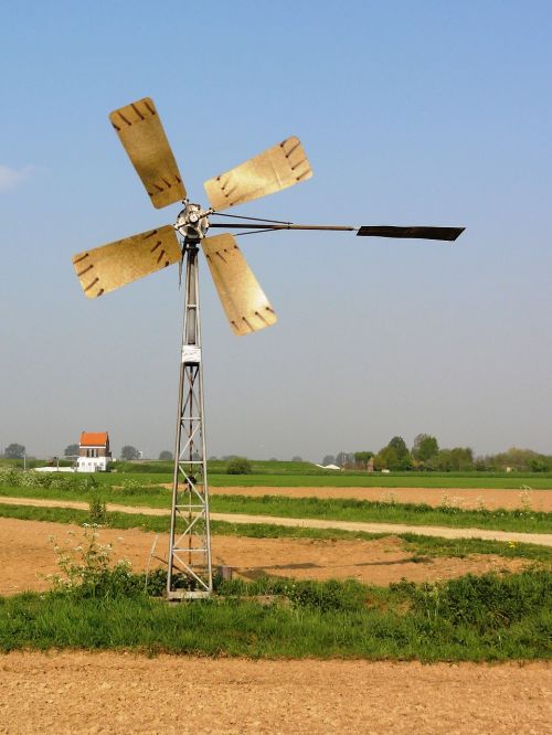
<path fill-rule="evenodd" d="M 498 661 L 550 658 L 551 574 L 389 588 L 354 582 L 226 583 L 168 606 L 142 593 L 0 598 L 0 650 L 93 649 L 253 658 Z M 263 596 L 263 603 L 256 596 Z"/>

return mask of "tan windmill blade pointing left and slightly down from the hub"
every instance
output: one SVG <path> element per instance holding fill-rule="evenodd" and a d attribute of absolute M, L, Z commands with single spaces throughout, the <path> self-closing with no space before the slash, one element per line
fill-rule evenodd
<path fill-rule="evenodd" d="M 73 267 L 85 295 L 94 299 L 178 263 L 181 254 L 174 227 L 166 225 L 78 253 Z"/>

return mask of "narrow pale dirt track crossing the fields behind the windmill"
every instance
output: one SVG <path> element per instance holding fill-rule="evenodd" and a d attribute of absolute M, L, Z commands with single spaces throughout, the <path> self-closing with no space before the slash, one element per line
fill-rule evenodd
<path fill-rule="evenodd" d="M 43 508 L 74 508 L 87 510 L 88 503 L 65 500 L 36 500 L 34 498 L 4 498 L 2 503 L 11 505 L 38 505 Z M 144 508 L 144 505 L 118 505 L 107 503 L 108 511 L 119 513 L 141 513 L 142 515 L 168 515 L 169 511 L 161 508 Z M 418 536 L 440 539 L 484 539 L 486 541 L 506 541 L 512 543 L 539 544 L 552 546 L 551 533 L 519 533 L 514 531 L 489 531 L 487 529 L 453 529 L 438 525 L 407 525 L 405 523 L 364 523 L 357 521 L 325 521 L 319 519 L 277 518 L 274 515 L 246 515 L 243 513 L 211 513 L 213 521 L 227 523 L 267 523 L 304 529 L 340 529 L 342 531 L 363 531 L 364 533 L 413 533 Z"/>

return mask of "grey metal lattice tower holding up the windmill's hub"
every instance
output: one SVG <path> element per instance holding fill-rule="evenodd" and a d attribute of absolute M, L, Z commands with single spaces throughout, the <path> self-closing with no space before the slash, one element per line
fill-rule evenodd
<path fill-rule="evenodd" d="M 197 243 L 184 243 L 185 296 L 167 598 L 213 592 Z"/>

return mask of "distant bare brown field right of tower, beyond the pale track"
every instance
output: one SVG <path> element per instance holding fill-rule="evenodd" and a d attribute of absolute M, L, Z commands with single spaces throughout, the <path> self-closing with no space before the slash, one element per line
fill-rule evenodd
<path fill-rule="evenodd" d="M 170 488 L 172 486 L 163 486 Z M 213 496 L 285 496 L 286 498 L 353 498 L 397 503 L 426 503 L 436 508 L 447 502 L 464 510 L 506 508 L 513 510 L 529 503 L 533 510 L 552 511 L 552 490 L 489 490 L 450 488 L 210 488 Z"/>

